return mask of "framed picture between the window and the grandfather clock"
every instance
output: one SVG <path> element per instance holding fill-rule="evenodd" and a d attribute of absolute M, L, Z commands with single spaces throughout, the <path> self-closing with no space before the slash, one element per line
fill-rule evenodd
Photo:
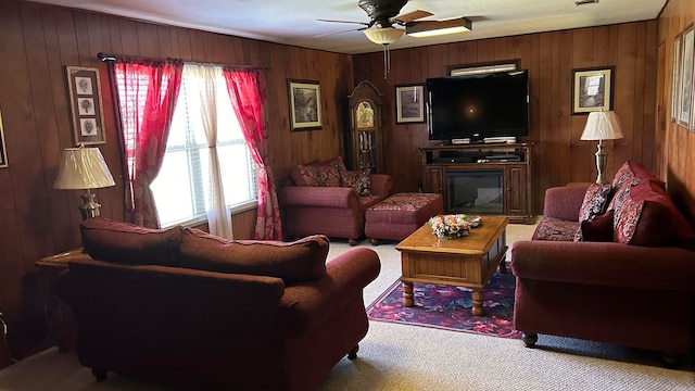
<path fill-rule="evenodd" d="M 321 129 L 321 92 L 318 81 L 287 80 L 290 131 Z"/>

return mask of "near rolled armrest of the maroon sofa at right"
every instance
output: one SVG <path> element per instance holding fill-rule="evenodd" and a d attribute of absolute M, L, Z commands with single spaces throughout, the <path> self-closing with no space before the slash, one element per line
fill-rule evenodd
<path fill-rule="evenodd" d="M 636 289 L 695 291 L 695 253 L 616 242 L 517 241 L 517 278 Z"/>

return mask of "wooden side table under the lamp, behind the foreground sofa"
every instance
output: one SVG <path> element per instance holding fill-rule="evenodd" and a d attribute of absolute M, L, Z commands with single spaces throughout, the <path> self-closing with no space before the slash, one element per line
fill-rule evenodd
<path fill-rule="evenodd" d="M 67 264 L 74 260 L 91 260 L 83 252 L 83 248 L 66 251 L 40 258 L 34 265 L 39 268 L 46 320 L 50 326 L 50 339 L 60 352 L 66 352 L 76 346 L 76 330 L 71 310 L 55 293 L 58 275 L 67 269 Z"/>

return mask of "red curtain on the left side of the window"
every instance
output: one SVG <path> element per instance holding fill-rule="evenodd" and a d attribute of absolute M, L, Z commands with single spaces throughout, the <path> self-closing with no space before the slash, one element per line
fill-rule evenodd
<path fill-rule="evenodd" d="M 160 218 L 150 185 L 164 160 L 184 63 L 117 58 L 113 66 L 125 157 L 125 219 L 159 228 Z"/>

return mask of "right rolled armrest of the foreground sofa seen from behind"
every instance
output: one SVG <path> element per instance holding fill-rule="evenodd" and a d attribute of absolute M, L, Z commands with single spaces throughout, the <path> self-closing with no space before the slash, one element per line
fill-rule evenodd
<path fill-rule="evenodd" d="M 343 303 L 362 298 L 363 289 L 381 269 L 374 250 L 351 249 L 326 263 L 326 276 L 286 287 L 280 305 L 287 308 L 288 332 L 299 333 L 321 324 Z"/>

